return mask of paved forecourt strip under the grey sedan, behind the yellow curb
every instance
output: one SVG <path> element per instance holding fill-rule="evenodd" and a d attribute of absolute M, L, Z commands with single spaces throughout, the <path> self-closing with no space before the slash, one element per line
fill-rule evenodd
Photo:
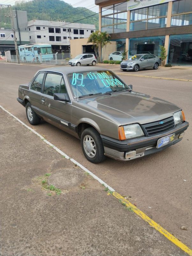
<path fill-rule="evenodd" d="M 129 76 L 144 76 L 144 77 L 157 77 L 157 78 L 172 78 L 177 80 L 190 80 L 192 82 L 192 66 L 174 66 L 174 67 L 159 67 L 157 70 L 152 68 L 141 69 L 138 72 L 127 71 L 124 72 L 120 69 L 120 65 L 116 64 L 97 64 L 102 68 L 113 70 L 118 75 Z"/>

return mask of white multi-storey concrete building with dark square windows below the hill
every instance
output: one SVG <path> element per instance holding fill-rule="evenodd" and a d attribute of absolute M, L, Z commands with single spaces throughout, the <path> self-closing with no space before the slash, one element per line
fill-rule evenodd
<path fill-rule="evenodd" d="M 88 38 L 95 32 L 95 25 L 61 20 L 31 20 L 27 27 L 31 43 L 51 44 L 53 51 L 68 51 L 70 39 Z"/>

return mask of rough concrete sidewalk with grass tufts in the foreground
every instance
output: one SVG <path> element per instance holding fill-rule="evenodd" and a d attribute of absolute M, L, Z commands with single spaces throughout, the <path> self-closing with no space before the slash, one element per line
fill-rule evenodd
<path fill-rule="evenodd" d="M 0 120 L 0 255 L 188 255 L 1 108 Z"/>

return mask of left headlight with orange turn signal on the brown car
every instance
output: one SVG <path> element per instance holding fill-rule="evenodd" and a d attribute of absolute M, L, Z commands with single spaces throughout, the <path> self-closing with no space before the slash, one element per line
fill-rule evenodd
<path fill-rule="evenodd" d="M 139 124 L 129 124 L 119 127 L 119 139 L 126 140 L 144 136 L 144 133 Z"/>

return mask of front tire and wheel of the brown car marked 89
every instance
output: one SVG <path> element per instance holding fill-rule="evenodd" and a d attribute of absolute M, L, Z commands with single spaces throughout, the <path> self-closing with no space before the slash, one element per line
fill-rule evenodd
<path fill-rule="evenodd" d="M 93 164 L 101 163 L 106 158 L 100 134 L 93 127 L 82 132 L 81 148 L 87 160 Z"/>

